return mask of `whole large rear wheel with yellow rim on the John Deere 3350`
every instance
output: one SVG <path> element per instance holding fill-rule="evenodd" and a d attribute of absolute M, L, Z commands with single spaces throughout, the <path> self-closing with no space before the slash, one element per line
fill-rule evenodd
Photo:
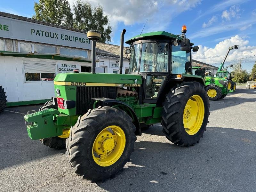
<path fill-rule="evenodd" d="M 209 107 L 202 84 L 184 82 L 173 87 L 163 103 L 161 124 L 166 138 L 186 147 L 199 142 L 206 130 Z"/>

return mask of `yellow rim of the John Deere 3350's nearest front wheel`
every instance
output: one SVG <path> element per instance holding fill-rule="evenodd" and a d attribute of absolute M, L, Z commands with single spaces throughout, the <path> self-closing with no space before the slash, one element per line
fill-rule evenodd
<path fill-rule="evenodd" d="M 124 131 L 116 125 L 108 126 L 94 140 L 92 147 L 93 160 L 102 167 L 110 166 L 121 157 L 124 147 Z"/>

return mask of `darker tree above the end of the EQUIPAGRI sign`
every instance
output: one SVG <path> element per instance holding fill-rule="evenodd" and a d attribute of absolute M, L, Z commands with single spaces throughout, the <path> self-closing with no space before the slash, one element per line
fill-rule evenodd
<path fill-rule="evenodd" d="M 100 42 L 110 42 L 112 28 L 109 25 L 108 15 L 104 15 L 104 8 L 100 5 L 92 8 L 89 2 L 76 1 L 74 9 L 74 28 L 81 30 L 97 30 L 101 33 Z"/>

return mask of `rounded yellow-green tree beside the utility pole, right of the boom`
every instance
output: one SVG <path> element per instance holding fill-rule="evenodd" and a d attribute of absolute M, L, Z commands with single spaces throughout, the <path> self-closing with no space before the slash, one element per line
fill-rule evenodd
<path fill-rule="evenodd" d="M 232 81 L 236 83 L 246 83 L 249 79 L 249 74 L 248 72 L 241 68 L 240 69 L 240 64 L 236 63 L 234 64 L 234 67 L 232 67 L 233 71 L 231 72 L 231 77 Z"/>

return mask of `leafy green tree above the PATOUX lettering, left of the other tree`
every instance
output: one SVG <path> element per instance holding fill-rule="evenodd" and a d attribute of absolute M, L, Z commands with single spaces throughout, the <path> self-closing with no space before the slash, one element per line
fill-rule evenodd
<path fill-rule="evenodd" d="M 73 27 L 74 19 L 68 0 L 39 0 L 34 3 L 33 19 Z"/>

